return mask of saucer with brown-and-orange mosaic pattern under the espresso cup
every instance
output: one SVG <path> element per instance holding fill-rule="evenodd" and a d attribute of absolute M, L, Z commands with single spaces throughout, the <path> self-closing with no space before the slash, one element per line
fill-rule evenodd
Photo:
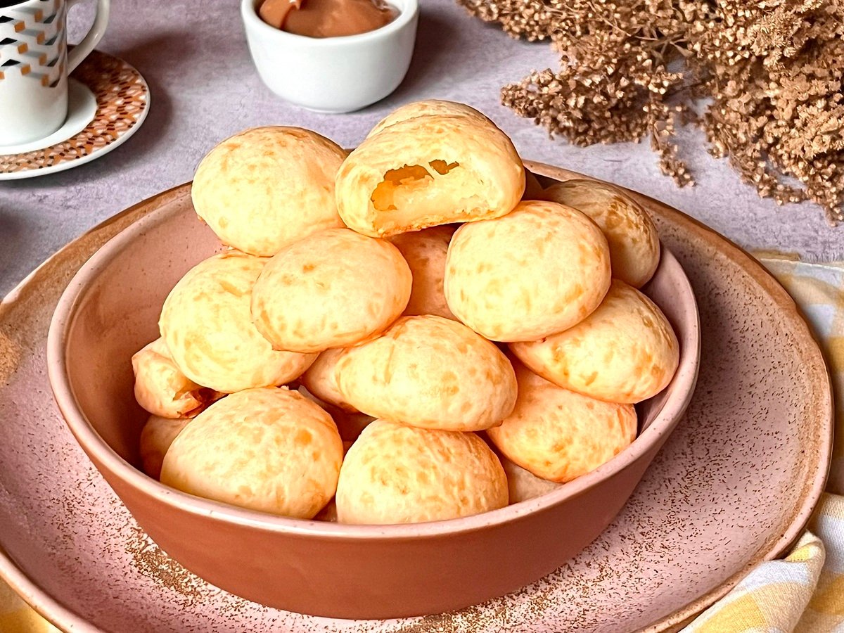
<path fill-rule="evenodd" d="M 0 181 L 43 176 L 100 158 L 125 143 L 146 118 L 149 86 L 122 59 L 93 51 L 71 77 L 94 93 L 94 119 L 81 132 L 50 147 L 0 155 Z"/>

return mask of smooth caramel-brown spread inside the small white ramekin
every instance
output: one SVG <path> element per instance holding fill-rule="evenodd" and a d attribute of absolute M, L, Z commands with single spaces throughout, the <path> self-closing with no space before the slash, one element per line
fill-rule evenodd
<path fill-rule="evenodd" d="M 338 37 L 380 29 L 398 11 L 383 0 L 264 0 L 258 15 L 288 33 Z"/>

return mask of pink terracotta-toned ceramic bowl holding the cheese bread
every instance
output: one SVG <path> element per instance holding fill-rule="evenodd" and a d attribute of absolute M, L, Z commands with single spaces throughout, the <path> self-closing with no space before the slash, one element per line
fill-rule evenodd
<path fill-rule="evenodd" d="M 460 609 L 514 591 L 609 525 L 695 387 L 695 297 L 663 249 L 646 291 L 674 325 L 679 370 L 664 392 L 642 403 L 636 441 L 592 473 L 482 515 L 396 526 L 273 517 L 187 495 L 136 468 L 146 414 L 133 398 L 130 357 L 158 336 L 160 308 L 176 281 L 220 247 L 189 202 L 149 208 L 100 248 L 62 295 L 47 342 L 51 386 L 73 436 L 149 536 L 198 576 L 257 603 L 383 619 Z"/>

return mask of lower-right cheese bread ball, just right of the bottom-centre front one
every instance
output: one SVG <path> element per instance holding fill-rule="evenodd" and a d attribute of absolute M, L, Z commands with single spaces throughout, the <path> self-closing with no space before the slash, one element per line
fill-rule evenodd
<path fill-rule="evenodd" d="M 636 438 L 636 409 L 557 387 L 517 364 L 513 413 L 487 435 L 508 459 L 550 481 L 571 481 Z"/>

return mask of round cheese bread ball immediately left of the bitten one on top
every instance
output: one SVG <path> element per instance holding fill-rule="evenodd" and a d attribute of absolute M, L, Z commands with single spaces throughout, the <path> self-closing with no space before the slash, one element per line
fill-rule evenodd
<path fill-rule="evenodd" d="M 343 226 L 334 177 L 346 151 L 300 127 L 255 127 L 199 163 L 191 197 L 219 240 L 269 257 L 291 241 Z"/>

